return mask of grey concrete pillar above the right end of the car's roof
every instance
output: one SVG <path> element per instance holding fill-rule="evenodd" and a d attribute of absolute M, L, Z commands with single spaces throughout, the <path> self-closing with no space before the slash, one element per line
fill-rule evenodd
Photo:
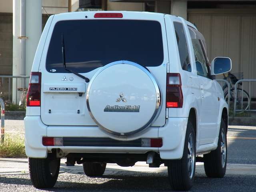
<path fill-rule="evenodd" d="M 187 1 L 171 1 L 171 15 L 183 17 L 187 20 Z"/>

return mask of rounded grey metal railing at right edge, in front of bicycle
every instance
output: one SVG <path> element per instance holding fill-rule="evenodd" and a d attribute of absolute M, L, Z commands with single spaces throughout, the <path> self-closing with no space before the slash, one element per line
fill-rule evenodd
<path fill-rule="evenodd" d="M 238 89 L 238 85 L 241 82 L 242 82 L 242 92 L 244 91 L 244 82 L 249 82 L 249 101 L 248 101 L 249 102 L 249 108 L 246 109 L 246 111 L 254 111 L 254 112 L 256 112 L 256 110 L 250 109 L 251 98 L 252 98 L 252 96 L 251 96 L 251 94 L 252 94 L 252 92 L 251 92 L 251 83 L 252 82 L 256 82 L 256 79 L 241 79 L 241 80 L 238 80 L 236 82 L 235 86 L 234 86 L 234 88 L 235 88 L 234 110 L 233 110 L 234 116 L 236 115 L 236 112 L 238 111 L 238 110 L 236 110 L 236 102 L 237 102 L 237 95 L 238 95 L 237 94 L 237 89 Z M 243 104 L 243 95 L 242 95 L 242 104 Z"/>

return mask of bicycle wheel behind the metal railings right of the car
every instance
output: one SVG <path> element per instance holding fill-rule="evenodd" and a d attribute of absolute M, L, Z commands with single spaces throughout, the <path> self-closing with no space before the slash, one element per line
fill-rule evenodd
<path fill-rule="evenodd" d="M 231 110 L 234 109 L 234 100 L 235 100 L 235 94 L 237 94 L 237 100 L 236 100 L 236 113 L 242 113 L 246 111 L 249 108 L 250 105 L 250 97 L 249 94 L 240 88 L 237 89 L 237 93 L 235 93 L 235 89 L 232 88 L 230 90 L 230 106 L 229 108 Z M 226 102 L 228 102 L 228 92 L 224 94 L 224 98 Z"/>

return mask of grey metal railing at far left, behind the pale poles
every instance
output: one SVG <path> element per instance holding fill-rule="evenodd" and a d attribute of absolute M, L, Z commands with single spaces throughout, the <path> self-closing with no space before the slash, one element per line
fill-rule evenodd
<path fill-rule="evenodd" d="M 18 94 L 17 92 L 18 91 L 24 91 L 26 90 L 26 78 L 28 79 L 30 76 L 12 76 L 12 75 L 0 75 L 0 78 L 1 78 L 1 81 L 2 81 L 2 84 L 4 82 L 4 79 L 8 79 L 8 100 L 10 100 L 10 90 L 11 90 L 11 79 L 15 78 L 16 79 L 16 93 L 15 93 L 15 97 L 16 97 L 16 104 L 18 104 Z M 18 87 L 18 79 L 22 79 L 22 87 Z M 13 90 L 13 89 L 12 89 Z M 13 100 L 13 98 L 12 98 Z"/>

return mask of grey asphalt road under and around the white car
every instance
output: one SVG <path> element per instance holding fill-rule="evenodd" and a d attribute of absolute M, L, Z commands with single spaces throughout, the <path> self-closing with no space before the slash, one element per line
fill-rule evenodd
<path fill-rule="evenodd" d="M 7 124 L 9 124 L 9 127 Z M 22 122 L 6 122 L 6 132 L 22 131 Z M 256 192 L 255 146 L 256 127 L 229 126 L 226 176 L 224 178 L 207 178 L 203 164 L 197 163 L 194 186 L 191 191 Z M 82 166 L 66 167 L 64 162 L 63 159 L 55 187 L 47 190 L 37 190 L 30 182 L 26 159 L 0 159 L 0 192 L 170 191 L 164 166 L 148 168 L 146 164 L 139 162 L 131 168 L 123 168 L 116 164 L 108 164 L 104 176 L 89 178 L 84 175 Z"/>

